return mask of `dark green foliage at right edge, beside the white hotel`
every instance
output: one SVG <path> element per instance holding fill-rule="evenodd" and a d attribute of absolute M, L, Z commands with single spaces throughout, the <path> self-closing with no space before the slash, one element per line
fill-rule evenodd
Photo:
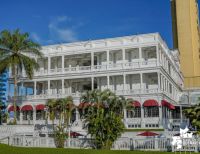
<path fill-rule="evenodd" d="M 193 127 L 196 127 L 200 134 L 200 104 L 184 110 L 185 116 L 189 118 Z"/>

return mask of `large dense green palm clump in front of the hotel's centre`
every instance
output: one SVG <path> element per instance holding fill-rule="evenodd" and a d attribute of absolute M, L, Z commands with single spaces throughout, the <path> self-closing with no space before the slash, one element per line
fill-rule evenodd
<path fill-rule="evenodd" d="M 110 149 L 123 132 L 123 109 L 129 101 L 110 90 L 93 90 L 84 94 L 81 102 L 90 103 L 85 123 L 96 147 Z"/>

